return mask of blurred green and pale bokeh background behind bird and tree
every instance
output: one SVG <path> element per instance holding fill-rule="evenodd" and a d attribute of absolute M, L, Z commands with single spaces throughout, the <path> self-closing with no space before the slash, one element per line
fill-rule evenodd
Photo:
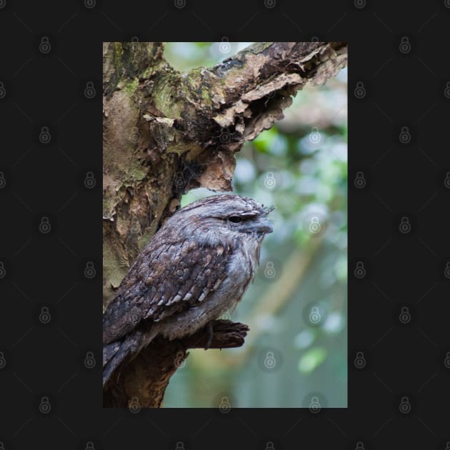
<path fill-rule="evenodd" d="M 166 58 L 185 71 L 249 44 L 168 43 Z M 239 349 L 191 350 L 164 406 L 346 407 L 346 69 L 299 91 L 236 161 L 234 192 L 276 207 L 254 284 L 224 315 L 250 331 Z M 214 194 L 194 189 L 181 206 Z"/>

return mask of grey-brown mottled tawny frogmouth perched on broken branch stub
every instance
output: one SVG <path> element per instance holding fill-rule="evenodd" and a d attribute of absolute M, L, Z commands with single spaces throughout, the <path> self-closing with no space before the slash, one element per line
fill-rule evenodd
<path fill-rule="evenodd" d="M 234 309 L 254 279 L 264 236 L 273 232 L 273 209 L 218 194 L 166 219 L 104 311 L 104 386 L 156 336 L 189 336 Z"/>

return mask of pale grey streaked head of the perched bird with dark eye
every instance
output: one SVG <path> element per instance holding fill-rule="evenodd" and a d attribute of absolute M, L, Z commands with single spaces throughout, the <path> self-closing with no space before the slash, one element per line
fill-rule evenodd
<path fill-rule="evenodd" d="M 262 241 L 273 231 L 268 218 L 273 209 L 249 197 L 222 194 L 194 201 L 176 211 L 166 224 L 176 224 L 180 231 L 213 246 L 249 237 Z"/>

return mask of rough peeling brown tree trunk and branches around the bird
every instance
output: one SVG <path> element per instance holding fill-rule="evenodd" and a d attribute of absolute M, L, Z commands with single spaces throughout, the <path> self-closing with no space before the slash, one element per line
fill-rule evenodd
<path fill-rule="evenodd" d="M 346 59 L 342 42 L 258 43 L 182 74 L 164 59 L 161 42 L 104 43 L 104 308 L 181 194 L 199 186 L 231 191 L 236 151 L 281 119 L 296 91 L 323 84 Z M 213 342 L 241 345 L 240 326 L 215 331 Z M 134 397 L 161 406 L 174 361 L 192 345 L 151 344 L 109 384 L 105 406 L 129 406 Z"/>

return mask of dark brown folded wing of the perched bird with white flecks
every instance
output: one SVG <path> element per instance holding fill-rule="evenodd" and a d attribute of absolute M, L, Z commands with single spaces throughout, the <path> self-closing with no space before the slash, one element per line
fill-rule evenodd
<path fill-rule="evenodd" d="M 103 342 L 121 339 L 143 320 L 160 321 L 207 300 L 226 277 L 231 250 L 184 241 L 143 251 L 104 313 Z"/>

